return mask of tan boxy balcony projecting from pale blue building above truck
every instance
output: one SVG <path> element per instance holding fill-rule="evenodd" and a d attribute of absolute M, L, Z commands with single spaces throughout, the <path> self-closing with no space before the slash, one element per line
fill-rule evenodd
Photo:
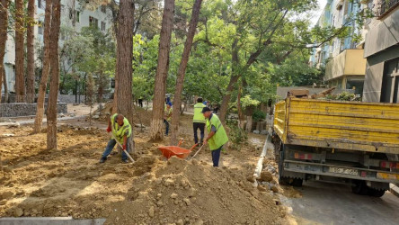
<path fill-rule="evenodd" d="M 363 49 L 346 49 L 327 63 L 324 80 L 343 76 L 364 76 L 365 72 L 366 58 L 363 58 Z"/>

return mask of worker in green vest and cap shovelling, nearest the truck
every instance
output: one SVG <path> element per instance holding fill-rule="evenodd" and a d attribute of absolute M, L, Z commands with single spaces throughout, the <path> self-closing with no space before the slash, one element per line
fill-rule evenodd
<path fill-rule="evenodd" d="M 204 145 L 209 144 L 213 166 L 217 167 L 219 166 L 220 151 L 228 141 L 226 130 L 217 115 L 213 114 L 208 107 L 204 107 L 202 113 L 207 119 L 208 130 L 208 137 L 204 140 Z"/>

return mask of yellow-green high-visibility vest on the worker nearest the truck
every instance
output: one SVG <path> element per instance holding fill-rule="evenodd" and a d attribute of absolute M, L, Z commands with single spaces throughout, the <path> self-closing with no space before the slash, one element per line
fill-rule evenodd
<path fill-rule="evenodd" d="M 216 150 L 217 148 L 222 147 L 227 143 L 228 137 L 226 134 L 226 130 L 223 127 L 222 122 L 219 120 L 217 115 L 212 114 L 212 117 L 207 119 L 207 130 L 210 133 L 212 125 L 217 129 L 216 133 L 212 136 L 212 138 L 208 139 L 208 145 L 210 150 Z"/>

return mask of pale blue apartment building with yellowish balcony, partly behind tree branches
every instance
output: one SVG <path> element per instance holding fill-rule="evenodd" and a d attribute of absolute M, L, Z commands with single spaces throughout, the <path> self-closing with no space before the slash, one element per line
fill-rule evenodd
<path fill-rule="evenodd" d="M 366 71 L 364 41 L 355 41 L 353 34 L 365 35 L 367 25 L 359 29 L 354 21 L 354 15 L 366 10 L 370 5 L 367 1 L 329 0 L 320 15 L 316 26 L 341 28 L 350 27 L 350 35 L 344 39 L 334 38 L 324 43 L 310 58 L 310 65 L 325 67 L 324 82 L 338 89 L 351 89 L 355 94 L 363 94 L 363 83 Z"/>

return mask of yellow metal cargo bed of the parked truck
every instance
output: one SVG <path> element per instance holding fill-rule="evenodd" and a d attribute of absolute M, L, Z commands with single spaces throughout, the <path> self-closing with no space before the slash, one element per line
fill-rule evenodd
<path fill-rule="evenodd" d="M 284 144 L 399 154 L 399 104 L 287 98 L 274 130 Z"/>

